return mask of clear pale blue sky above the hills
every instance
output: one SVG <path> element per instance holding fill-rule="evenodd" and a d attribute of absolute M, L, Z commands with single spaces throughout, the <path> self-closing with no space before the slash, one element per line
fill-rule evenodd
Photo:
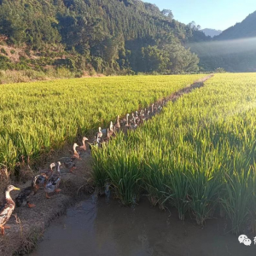
<path fill-rule="evenodd" d="M 162 9 L 171 9 L 174 19 L 201 28 L 225 30 L 256 11 L 256 0 L 143 0 Z"/>

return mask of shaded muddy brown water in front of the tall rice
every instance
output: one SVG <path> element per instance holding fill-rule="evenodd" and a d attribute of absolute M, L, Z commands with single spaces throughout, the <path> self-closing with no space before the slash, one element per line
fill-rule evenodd
<path fill-rule="evenodd" d="M 204 229 L 185 223 L 177 214 L 160 212 L 143 201 L 136 208 L 88 199 L 70 208 L 45 232 L 31 256 L 240 256 L 256 255 L 236 236 L 224 235 L 220 220 L 208 220 Z M 247 234 L 246 234 L 247 235 Z M 248 236 L 253 240 L 253 236 Z"/>

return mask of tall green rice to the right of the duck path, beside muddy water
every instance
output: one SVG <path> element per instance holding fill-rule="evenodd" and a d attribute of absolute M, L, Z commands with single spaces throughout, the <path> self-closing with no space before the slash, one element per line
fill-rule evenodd
<path fill-rule="evenodd" d="M 224 217 L 256 231 L 256 75 L 216 74 L 164 112 L 93 148 L 96 186 L 125 205 L 143 195 L 197 224 Z"/>

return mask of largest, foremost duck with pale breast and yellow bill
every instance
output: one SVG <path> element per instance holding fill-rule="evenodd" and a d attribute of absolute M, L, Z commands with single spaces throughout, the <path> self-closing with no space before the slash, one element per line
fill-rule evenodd
<path fill-rule="evenodd" d="M 0 231 L 3 236 L 4 236 L 4 230 L 10 228 L 5 224 L 9 221 L 9 218 L 11 217 L 12 213 L 15 210 L 15 202 L 12 200 L 11 196 L 9 195 L 9 193 L 13 190 L 20 190 L 20 189 L 16 188 L 13 185 L 9 185 L 5 189 L 5 197 L 4 197 L 3 205 L 0 207 Z"/>

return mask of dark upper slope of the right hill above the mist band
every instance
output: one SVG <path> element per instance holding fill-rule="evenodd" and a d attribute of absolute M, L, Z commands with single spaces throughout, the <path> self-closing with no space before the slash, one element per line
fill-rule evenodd
<path fill-rule="evenodd" d="M 256 37 L 256 11 L 248 15 L 241 23 L 236 23 L 235 26 L 230 26 L 217 37 L 215 40 L 230 40 L 237 38 L 253 38 Z"/>

